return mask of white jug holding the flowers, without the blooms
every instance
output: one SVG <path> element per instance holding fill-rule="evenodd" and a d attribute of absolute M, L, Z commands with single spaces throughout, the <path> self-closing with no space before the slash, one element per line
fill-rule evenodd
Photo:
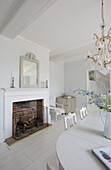
<path fill-rule="evenodd" d="M 102 110 L 100 111 L 100 115 L 104 124 L 104 136 L 111 140 L 111 112 L 106 111 L 105 121 L 103 119 Z"/>

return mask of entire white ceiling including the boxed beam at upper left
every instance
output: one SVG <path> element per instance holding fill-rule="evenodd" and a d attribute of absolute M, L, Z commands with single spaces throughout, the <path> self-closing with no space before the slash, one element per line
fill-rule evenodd
<path fill-rule="evenodd" d="M 94 43 L 93 33 L 100 35 L 100 0 L 6 1 L 0 1 L 0 33 L 9 38 L 19 35 L 50 49 L 53 60 L 68 61 L 72 56 L 80 56 L 81 51 L 85 54 Z M 107 32 L 111 27 L 111 0 L 104 3 Z M 8 17 L 5 18 L 4 21 L 7 19 L 7 22 L 3 25 L 3 13 L 8 16 L 10 10 L 7 15 L 5 10 L 12 9 L 11 5 L 13 19 L 10 16 L 8 22 Z M 15 7 L 17 11 L 14 10 Z"/>

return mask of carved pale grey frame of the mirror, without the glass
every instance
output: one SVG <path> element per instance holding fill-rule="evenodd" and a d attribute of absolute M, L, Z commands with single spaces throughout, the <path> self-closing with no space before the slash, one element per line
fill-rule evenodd
<path fill-rule="evenodd" d="M 36 85 L 25 85 L 23 81 L 23 61 L 29 61 L 36 64 Z M 25 56 L 20 56 L 20 87 L 21 88 L 38 88 L 39 87 L 39 61 L 33 53 L 27 53 Z"/>

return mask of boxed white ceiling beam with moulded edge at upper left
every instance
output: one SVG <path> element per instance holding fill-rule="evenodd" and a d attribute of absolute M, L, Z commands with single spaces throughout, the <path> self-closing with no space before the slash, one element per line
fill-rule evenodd
<path fill-rule="evenodd" d="M 15 38 L 57 0 L 14 0 L 0 21 L 0 34 Z"/>

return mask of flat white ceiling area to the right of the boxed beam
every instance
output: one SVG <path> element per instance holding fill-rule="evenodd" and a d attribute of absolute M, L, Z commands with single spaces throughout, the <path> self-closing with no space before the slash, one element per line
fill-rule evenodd
<path fill-rule="evenodd" d="M 58 57 L 93 42 L 93 33 L 100 33 L 100 5 L 100 0 L 58 0 L 21 36 L 47 47 L 51 56 Z M 104 6 L 105 21 L 111 26 L 111 0 Z"/>

